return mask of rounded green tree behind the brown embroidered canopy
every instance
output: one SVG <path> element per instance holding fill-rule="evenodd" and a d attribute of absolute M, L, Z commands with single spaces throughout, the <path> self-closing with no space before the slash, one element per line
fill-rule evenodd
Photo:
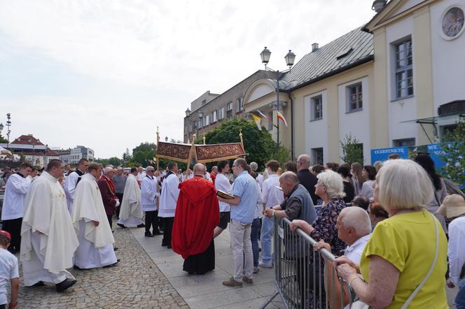
<path fill-rule="evenodd" d="M 224 122 L 205 135 L 205 142 L 207 144 L 240 142 L 240 130 L 244 139 L 244 150 L 248 154 L 247 161 L 255 161 L 258 166 L 265 166 L 276 150 L 276 143 L 268 131 L 259 131 L 255 122 L 251 120 L 235 118 Z M 197 141 L 203 143 L 202 138 Z"/>

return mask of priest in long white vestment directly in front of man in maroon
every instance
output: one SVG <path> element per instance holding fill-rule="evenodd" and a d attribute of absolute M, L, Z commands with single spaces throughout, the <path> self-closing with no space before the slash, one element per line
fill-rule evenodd
<path fill-rule="evenodd" d="M 118 263 L 113 250 L 115 240 L 97 185 L 101 175 L 102 164 L 90 164 L 88 173 L 81 177 L 74 194 L 71 219 L 79 240 L 74 253 L 76 269 L 113 266 Z"/>

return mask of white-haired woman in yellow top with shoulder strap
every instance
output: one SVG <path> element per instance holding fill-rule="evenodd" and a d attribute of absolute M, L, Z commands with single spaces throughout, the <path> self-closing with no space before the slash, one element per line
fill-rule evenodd
<path fill-rule="evenodd" d="M 426 278 L 438 245 L 433 271 L 408 308 L 448 308 L 447 240 L 439 228 L 436 244 L 436 218 L 423 207 L 432 197 L 431 180 L 414 161 L 389 160 L 380 169 L 375 199 L 386 208 L 389 219 L 376 225 L 363 250 L 360 267 L 344 257 L 335 261 L 340 277 L 349 282 L 364 303 L 373 308 L 401 308 Z"/>

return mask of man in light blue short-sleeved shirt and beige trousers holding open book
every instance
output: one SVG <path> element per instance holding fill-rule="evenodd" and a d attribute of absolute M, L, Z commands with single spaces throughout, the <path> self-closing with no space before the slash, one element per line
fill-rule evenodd
<path fill-rule="evenodd" d="M 253 282 L 254 257 L 250 233 L 258 200 L 258 187 L 254 178 L 247 172 L 247 168 L 247 162 L 244 159 L 236 159 L 232 164 L 232 173 L 236 176 L 232 185 L 234 199 L 218 197 L 218 200 L 231 206 L 229 232 L 235 271 L 233 277 L 223 281 L 223 285 L 227 287 L 242 287 L 242 281 L 249 284 Z M 242 275 L 244 269 L 245 275 Z"/>

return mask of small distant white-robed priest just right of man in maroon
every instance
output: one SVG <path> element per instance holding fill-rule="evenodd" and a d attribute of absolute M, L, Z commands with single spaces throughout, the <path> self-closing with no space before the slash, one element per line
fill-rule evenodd
<path fill-rule="evenodd" d="M 122 228 L 145 227 L 142 223 L 141 189 L 136 176 L 137 168 L 133 167 L 127 176 L 123 201 L 121 202 L 118 226 Z"/>

